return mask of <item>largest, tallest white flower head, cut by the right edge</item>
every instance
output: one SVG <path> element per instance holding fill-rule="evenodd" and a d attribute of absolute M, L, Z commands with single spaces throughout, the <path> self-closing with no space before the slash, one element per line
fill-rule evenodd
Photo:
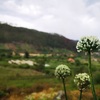
<path fill-rule="evenodd" d="M 97 51 L 100 49 L 100 40 L 95 36 L 82 37 L 77 42 L 76 49 L 78 52 L 81 51 Z"/>

